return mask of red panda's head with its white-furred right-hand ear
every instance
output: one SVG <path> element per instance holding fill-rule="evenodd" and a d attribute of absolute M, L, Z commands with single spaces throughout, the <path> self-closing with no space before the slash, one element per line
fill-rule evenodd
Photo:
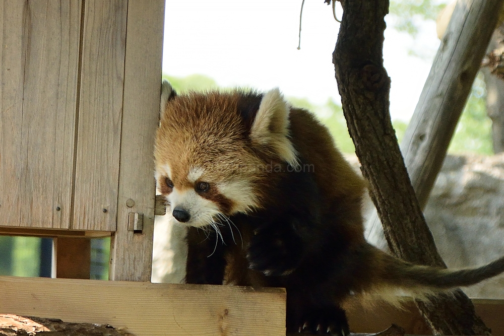
<path fill-rule="evenodd" d="M 274 97 L 264 108 L 268 95 Z M 165 104 L 156 135 L 156 179 L 175 222 L 205 227 L 260 208 L 267 160 L 295 163 L 278 90 L 245 98 L 192 94 Z"/>

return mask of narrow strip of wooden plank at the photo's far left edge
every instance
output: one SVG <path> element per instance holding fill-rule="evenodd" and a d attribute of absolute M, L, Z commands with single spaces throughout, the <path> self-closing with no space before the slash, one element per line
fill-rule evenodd
<path fill-rule="evenodd" d="M 0 18 L 0 225 L 19 226 L 24 1 L 0 0 Z"/>

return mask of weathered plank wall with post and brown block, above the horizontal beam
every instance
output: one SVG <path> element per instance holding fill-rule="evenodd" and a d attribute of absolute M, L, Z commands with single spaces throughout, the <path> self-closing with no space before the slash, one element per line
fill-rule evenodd
<path fill-rule="evenodd" d="M 68 278 L 86 277 L 72 271 L 86 238 L 111 236 L 110 278 L 149 281 L 164 2 L 14 0 L 0 14 L 0 233 L 56 237 Z"/>

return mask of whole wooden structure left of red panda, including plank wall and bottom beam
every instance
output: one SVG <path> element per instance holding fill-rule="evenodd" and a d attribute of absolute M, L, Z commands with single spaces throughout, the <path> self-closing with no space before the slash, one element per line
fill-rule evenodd
<path fill-rule="evenodd" d="M 0 277 L 0 311 L 139 335 L 285 334 L 283 290 L 149 283 L 164 6 L 0 0 L 0 234 L 54 237 L 57 278 L 80 279 L 90 238 L 109 236 L 116 280 Z"/>

